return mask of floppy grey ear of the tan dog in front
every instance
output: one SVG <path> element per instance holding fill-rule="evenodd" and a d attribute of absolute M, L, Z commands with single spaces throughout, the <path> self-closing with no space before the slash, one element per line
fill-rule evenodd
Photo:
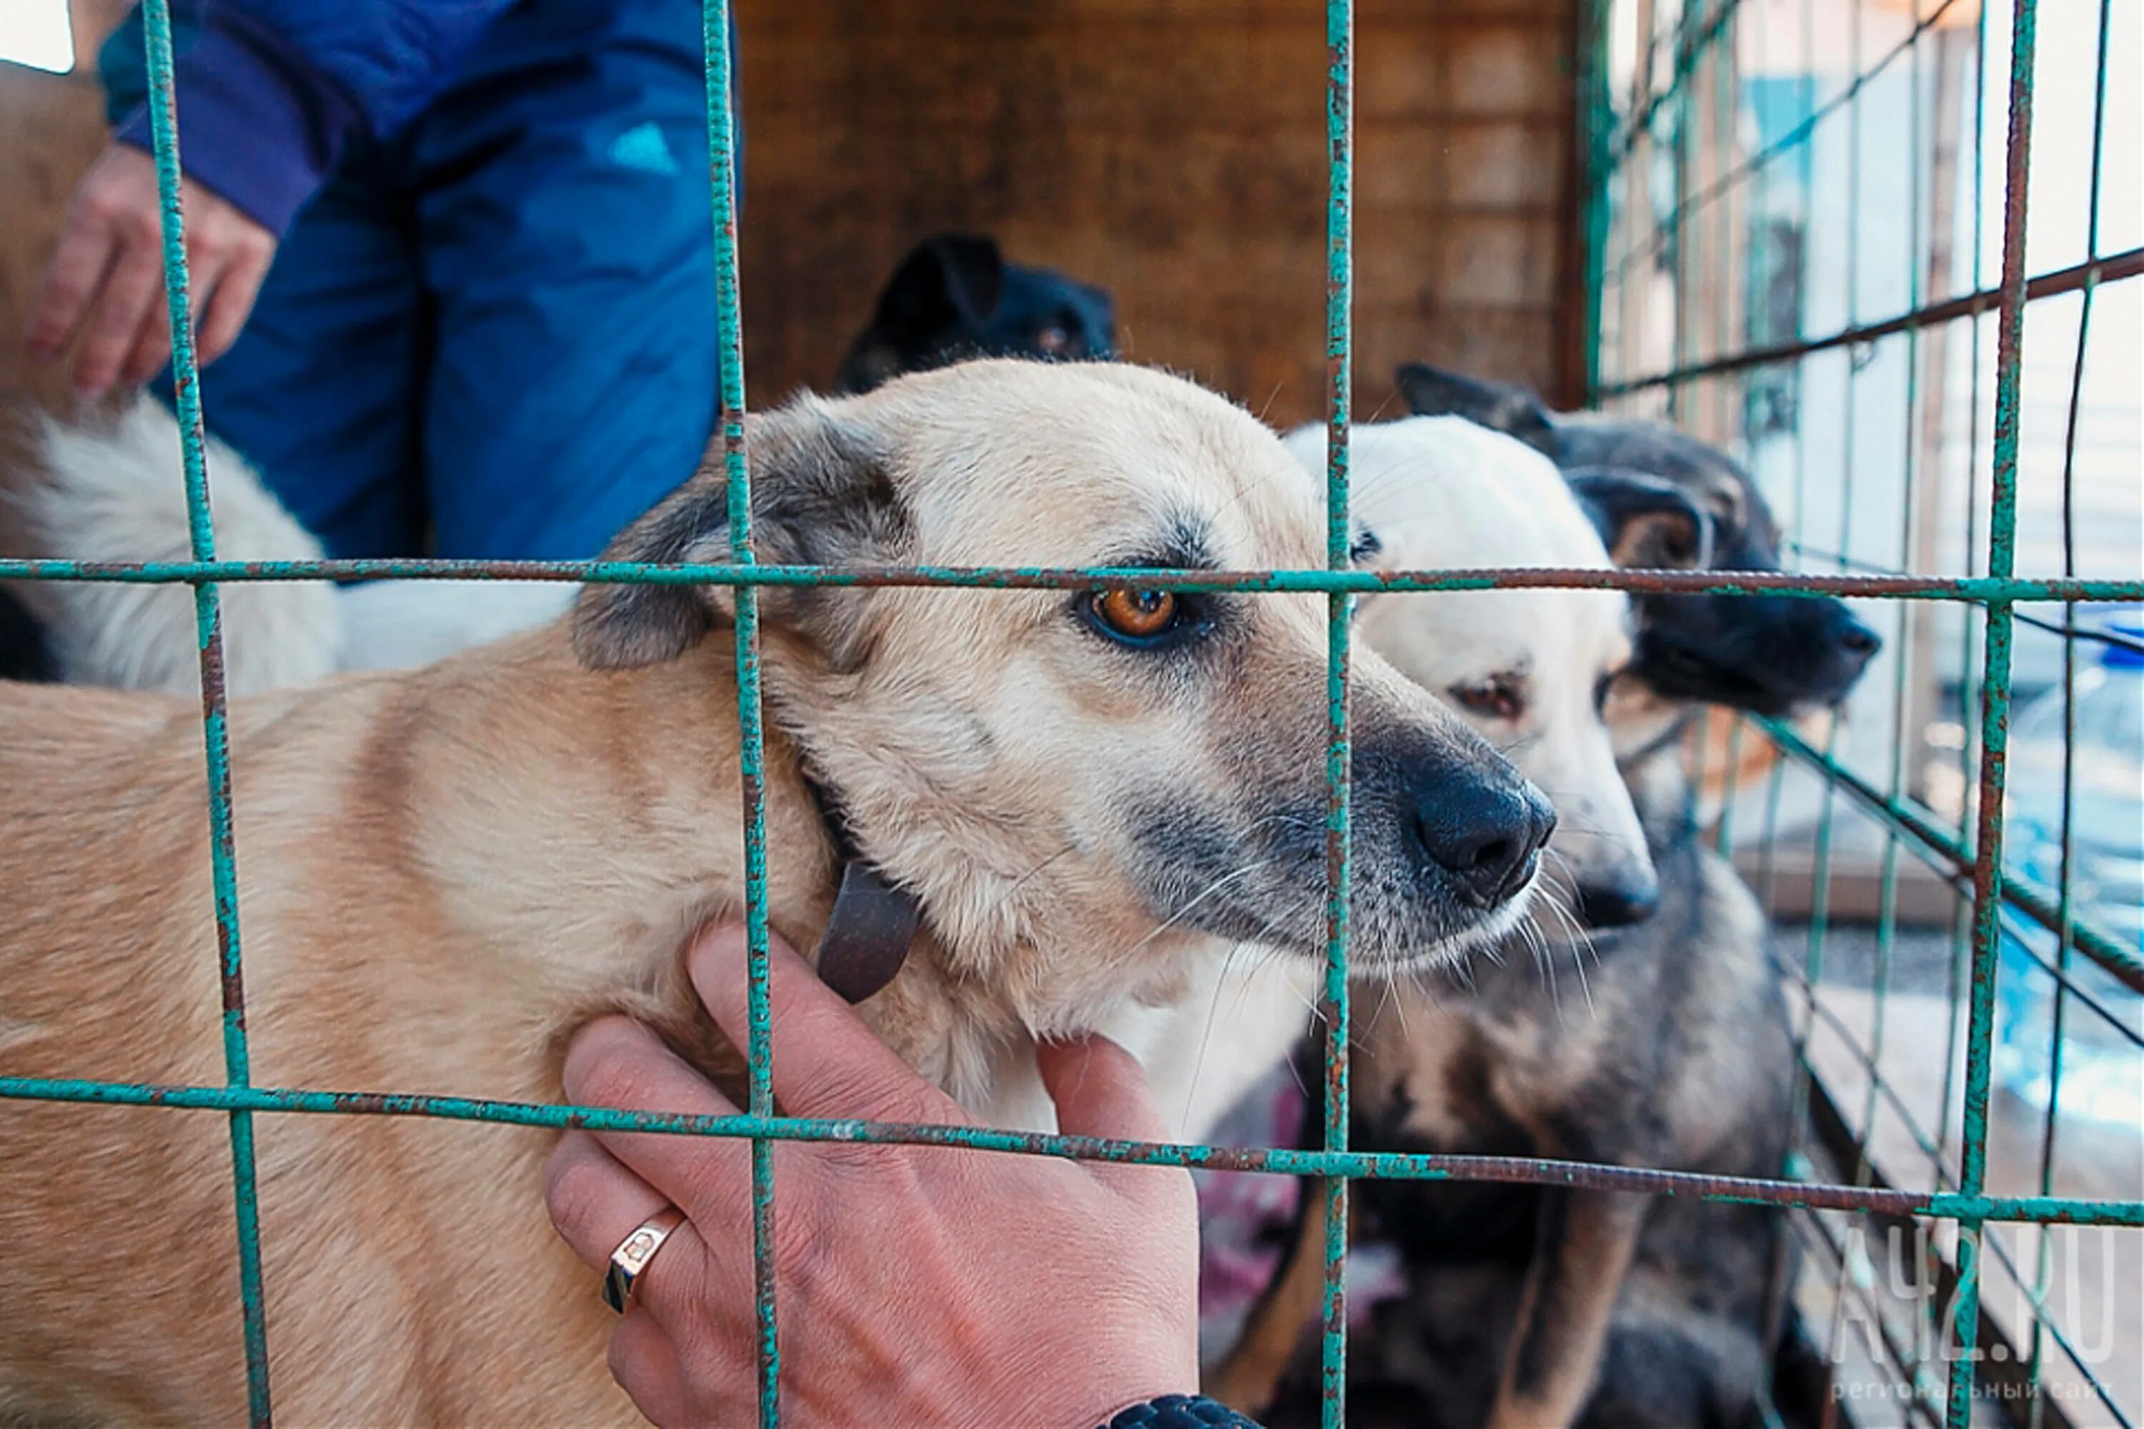
<path fill-rule="evenodd" d="M 753 553 L 765 566 L 858 566 L 903 559 L 911 523 L 890 456 L 862 424 L 804 398 L 744 420 L 753 480 Z M 628 525 L 607 561 L 727 563 L 729 480 L 720 439 L 693 480 Z M 802 634 L 834 664 L 853 666 L 866 589 L 759 587 L 770 630 Z M 675 660 L 735 611 L 731 587 L 585 585 L 572 611 L 581 664 L 622 671 Z"/>

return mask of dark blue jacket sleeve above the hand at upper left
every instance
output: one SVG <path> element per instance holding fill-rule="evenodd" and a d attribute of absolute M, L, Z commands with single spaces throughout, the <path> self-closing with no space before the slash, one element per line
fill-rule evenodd
<path fill-rule="evenodd" d="M 517 0 L 206 0 L 174 69 L 187 174 L 281 236 L 343 148 L 388 137 Z M 150 148 L 148 111 L 118 139 Z"/>

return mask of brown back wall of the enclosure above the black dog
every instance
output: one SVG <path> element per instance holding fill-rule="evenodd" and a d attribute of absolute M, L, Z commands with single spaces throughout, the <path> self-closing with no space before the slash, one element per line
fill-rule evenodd
<path fill-rule="evenodd" d="M 757 401 L 825 381 L 907 246 L 993 231 L 1128 356 L 1323 411 L 1312 0 L 740 0 Z M 1572 388 L 1572 0 L 1361 0 L 1357 401 L 1428 356 Z"/>

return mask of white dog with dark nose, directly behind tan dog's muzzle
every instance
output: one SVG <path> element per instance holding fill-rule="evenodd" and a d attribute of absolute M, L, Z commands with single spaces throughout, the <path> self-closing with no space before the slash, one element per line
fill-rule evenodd
<path fill-rule="evenodd" d="M 1323 426 L 1297 428 L 1284 446 L 1323 478 Z M 1359 566 L 1612 566 L 1554 463 L 1514 437 L 1464 418 L 1404 418 L 1357 426 L 1351 461 Z M 1627 596 L 1374 593 L 1357 602 L 1355 636 L 1451 705 L 1554 801 L 1557 831 L 1533 906 L 1548 908 L 1557 932 L 1651 911 L 1653 861 L 1602 722 L 1602 696 L 1632 651 Z M 1299 1041 L 1314 986 L 1299 962 L 1237 958 L 1207 990 L 1214 1031 L 1179 1050 L 1196 1063 L 1183 1078 L 1192 1135 L 1211 1129 Z"/>

